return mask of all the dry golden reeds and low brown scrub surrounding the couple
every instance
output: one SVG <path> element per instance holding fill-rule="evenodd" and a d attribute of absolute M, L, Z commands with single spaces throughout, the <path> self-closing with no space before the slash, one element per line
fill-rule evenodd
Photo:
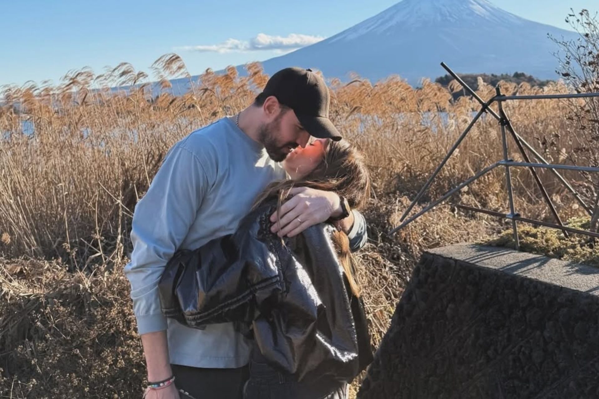
<path fill-rule="evenodd" d="M 183 61 L 167 54 L 150 78 L 128 63 L 94 75 L 69 72 L 59 86 L 4 87 L 0 102 L 0 392 L 4 397 L 136 397 L 143 355 L 122 266 L 137 200 L 162 157 L 192 130 L 235 114 L 252 102 L 267 76 L 258 64 L 240 77 L 207 70 L 201 84 Z M 192 85 L 172 96 L 169 78 Z M 137 85 L 130 90 L 110 87 Z M 566 93 L 501 83 L 505 94 Z M 455 83 L 450 90 L 456 90 Z M 494 88 L 479 84 L 488 99 Z M 416 191 L 438 165 L 478 106 L 425 81 L 413 89 L 398 77 L 372 84 L 356 77 L 331 82 L 331 118 L 367 155 L 375 197 L 365 212 L 370 243 L 360 255 L 368 318 L 376 346 L 386 330 L 415 260 L 426 248 L 491 237 L 506 225 L 439 206 L 397 236 L 386 236 Z M 518 132 L 547 160 L 567 162 L 584 151 L 560 100 L 508 103 Z M 33 130 L 33 134 L 31 131 Z M 423 198 L 427 201 L 501 158 L 498 125 L 485 117 Z M 510 154 L 520 159 L 519 154 Z M 589 182 L 566 173 L 588 197 Z M 580 209 L 546 172 L 540 172 L 564 219 Z M 513 172 L 517 208 L 550 220 L 527 170 Z M 456 194 L 454 201 L 505 211 L 500 170 Z M 421 205 L 415 209 L 417 211 Z M 467 217 L 466 217 L 467 216 Z M 20 260 L 14 260 L 19 258 Z M 62 261 L 43 261 L 58 258 Z M 35 261 L 26 261 L 36 259 Z M 59 382 L 66 376 L 68 384 Z M 20 382 L 17 382 L 19 381 Z M 102 386 L 102 382 L 108 382 Z"/>

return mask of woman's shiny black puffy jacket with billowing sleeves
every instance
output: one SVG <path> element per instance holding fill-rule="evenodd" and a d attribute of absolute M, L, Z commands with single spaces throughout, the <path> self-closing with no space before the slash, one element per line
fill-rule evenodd
<path fill-rule="evenodd" d="M 331 234 L 319 224 L 296 237 L 270 232 L 273 202 L 237 232 L 179 251 L 159 282 L 162 312 L 193 328 L 235 322 L 269 363 L 298 380 L 350 382 L 372 361 L 362 300 L 349 289 Z"/>

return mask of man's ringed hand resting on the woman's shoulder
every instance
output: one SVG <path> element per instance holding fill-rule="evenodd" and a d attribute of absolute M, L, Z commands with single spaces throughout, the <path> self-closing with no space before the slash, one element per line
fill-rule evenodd
<path fill-rule="evenodd" d="M 339 196 L 331 191 L 314 190 L 314 188 L 298 187 L 289 191 L 292 196 L 281 206 L 280 223 L 277 223 L 277 212 L 270 217 L 273 222 L 271 231 L 279 237 L 293 237 L 310 226 L 322 223 L 328 218 L 341 215 Z"/>

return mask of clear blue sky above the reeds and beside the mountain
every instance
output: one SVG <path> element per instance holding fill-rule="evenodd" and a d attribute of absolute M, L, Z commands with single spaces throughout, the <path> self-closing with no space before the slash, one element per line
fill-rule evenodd
<path fill-rule="evenodd" d="M 597 0 L 491 1 L 511 13 L 565 29 L 570 7 L 599 11 Z M 200 74 L 208 67 L 222 69 L 278 56 L 291 45 L 334 35 L 396 2 L 0 0 L 0 86 L 46 79 L 58 83 L 69 69 L 90 66 L 99 74 L 104 66 L 122 61 L 149 72 L 154 60 L 173 51 L 192 74 Z M 205 51 L 187 49 L 195 46 Z M 222 52 L 226 48 L 229 51 Z"/>

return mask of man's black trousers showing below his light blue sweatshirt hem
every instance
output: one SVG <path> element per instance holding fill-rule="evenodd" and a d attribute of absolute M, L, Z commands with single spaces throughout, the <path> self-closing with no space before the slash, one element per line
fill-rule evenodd
<path fill-rule="evenodd" d="M 242 399 L 249 367 L 198 368 L 171 364 L 181 399 Z"/>

